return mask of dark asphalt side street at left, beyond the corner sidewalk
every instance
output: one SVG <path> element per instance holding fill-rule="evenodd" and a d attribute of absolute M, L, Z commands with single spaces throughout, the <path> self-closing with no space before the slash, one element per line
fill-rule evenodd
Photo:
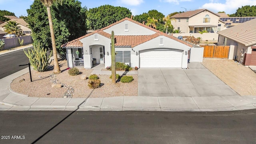
<path fill-rule="evenodd" d="M 0 56 L 0 79 L 28 67 L 19 66 L 28 63 L 28 57 L 23 50 Z"/>

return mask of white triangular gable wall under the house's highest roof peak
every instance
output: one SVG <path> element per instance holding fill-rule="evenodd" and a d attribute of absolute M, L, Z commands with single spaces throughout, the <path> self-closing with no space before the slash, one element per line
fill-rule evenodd
<path fill-rule="evenodd" d="M 125 24 L 128 24 L 128 31 L 125 31 Z M 144 28 L 143 26 L 130 22 L 129 20 L 124 20 L 123 22 L 111 26 L 103 31 L 111 34 L 112 30 L 114 30 L 115 35 L 152 35 L 156 33 L 148 28 Z"/>

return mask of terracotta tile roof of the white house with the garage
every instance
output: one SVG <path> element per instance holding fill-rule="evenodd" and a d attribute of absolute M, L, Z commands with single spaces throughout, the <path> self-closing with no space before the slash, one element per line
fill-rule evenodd
<path fill-rule="evenodd" d="M 102 36 L 105 36 L 106 38 L 110 38 L 111 34 L 108 34 L 106 32 L 104 32 L 103 30 L 106 30 L 107 28 L 110 28 L 111 26 L 114 26 L 116 24 L 119 24 L 120 22 L 123 22 L 124 20 L 129 20 L 130 22 L 133 22 L 135 24 L 138 24 L 140 26 L 143 26 L 144 28 L 148 28 L 154 32 L 156 32 L 155 34 L 152 35 L 138 35 L 138 36 L 134 36 L 134 35 L 125 35 L 125 36 L 115 36 L 116 38 L 116 44 L 115 46 L 131 46 L 132 48 L 134 46 L 138 46 L 139 44 L 142 44 L 144 42 L 147 42 L 148 40 L 152 40 L 153 38 L 156 38 L 158 36 L 166 36 L 168 38 L 171 38 L 173 40 L 176 40 L 178 42 L 181 42 L 183 44 L 186 44 L 187 46 L 193 47 L 193 44 L 189 43 L 189 42 L 184 42 L 182 40 L 179 40 L 178 38 L 174 37 L 174 36 L 170 36 L 168 34 L 165 34 L 163 32 L 160 32 L 159 30 L 156 30 L 154 28 L 151 28 L 149 26 L 146 26 L 144 24 L 141 24 L 140 22 L 137 22 L 135 20 L 132 20 L 130 18 L 124 18 L 118 22 L 115 22 L 114 24 L 110 24 L 109 26 L 106 26 L 105 28 L 102 28 L 100 30 L 95 30 L 94 32 L 90 33 L 90 34 L 86 34 L 80 38 L 77 38 L 75 40 L 72 40 L 66 44 L 63 44 L 61 47 L 69 47 L 69 48 L 74 48 L 74 47 L 82 47 L 83 44 L 80 42 L 80 40 L 82 38 L 86 38 L 87 36 L 93 35 L 93 34 L 100 34 Z"/>

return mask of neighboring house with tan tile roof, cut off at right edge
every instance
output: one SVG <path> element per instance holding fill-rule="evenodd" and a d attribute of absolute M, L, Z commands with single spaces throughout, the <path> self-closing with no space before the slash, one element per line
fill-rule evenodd
<path fill-rule="evenodd" d="M 243 59 L 245 66 L 256 66 L 256 18 L 218 34 L 218 45 L 230 46 L 229 59 Z"/>

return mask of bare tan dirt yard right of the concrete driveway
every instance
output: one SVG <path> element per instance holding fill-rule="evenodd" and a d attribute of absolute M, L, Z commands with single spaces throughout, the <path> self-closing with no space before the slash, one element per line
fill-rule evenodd
<path fill-rule="evenodd" d="M 241 96 L 256 95 L 256 73 L 234 60 L 204 58 L 202 64 Z"/>

